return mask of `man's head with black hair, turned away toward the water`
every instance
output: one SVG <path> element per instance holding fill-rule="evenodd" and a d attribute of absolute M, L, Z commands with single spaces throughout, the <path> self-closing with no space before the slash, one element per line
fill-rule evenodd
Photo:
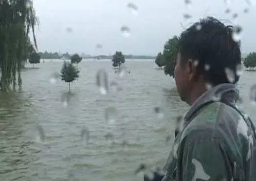
<path fill-rule="evenodd" d="M 240 43 L 233 40 L 233 27 L 207 17 L 181 33 L 174 71 L 178 93 L 192 104 L 206 85 L 236 83 L 241 66 Z"/>

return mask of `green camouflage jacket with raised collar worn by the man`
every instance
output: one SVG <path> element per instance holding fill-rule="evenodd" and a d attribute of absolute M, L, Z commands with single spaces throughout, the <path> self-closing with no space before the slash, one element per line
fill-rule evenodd
<path fill-rule="evenodd" d="M 197 99 L 174 141 L 162 181 L 256 181 L 255 128 L 234 106 L 238 98 L 235 85 L 220 84 Z"/>

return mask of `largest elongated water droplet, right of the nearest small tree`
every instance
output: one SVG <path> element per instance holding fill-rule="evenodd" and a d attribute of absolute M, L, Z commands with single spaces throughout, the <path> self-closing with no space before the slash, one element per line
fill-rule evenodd
<path fill-rule="evenodd" d="M 104 69 L 100 69 L 96 74 L 96 84 L 100 93 L 105 95 L 108 92 L 108 76 Z"/>

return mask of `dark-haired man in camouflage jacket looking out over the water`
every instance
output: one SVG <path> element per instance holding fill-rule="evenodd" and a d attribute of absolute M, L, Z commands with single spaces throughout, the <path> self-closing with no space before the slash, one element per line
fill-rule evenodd
<path fill-rule="evenodd" d="M 174 78 L 191 107 L 162 181 L 256 180 L 255 128 L 236 108 L 241 52 L 232 37 L 232 27 L 213 17 L 180 36 Z"/>

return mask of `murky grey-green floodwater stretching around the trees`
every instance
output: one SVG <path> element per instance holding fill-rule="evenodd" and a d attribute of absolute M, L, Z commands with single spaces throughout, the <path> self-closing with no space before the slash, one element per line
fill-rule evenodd
<path fill-rule="evenodd" d="M 134 175 L 140 163 L 163 166 L 173 142 L 167 144 L 166 138 L 173 139 L 176 117 L 188 107 L 179 100 L 174 80 L 157 70 L 154 60 L 126 60 L 123 77 L 111 60 L 84 60 L 71 94 L 65 82 L 52 81 L 61 66 L 61 60 L 45 60 L 35 69 L 27 65 L 22 92 L 0 94 L 0 180 L 131 181 L 142 180 Z M 99 69 L 107 71 L 119 91 L 100 94 Z M 239 84 L 242 106 L 252 120 L 256 112 L 248 93 L 254 78 L 255 73 L 245 72 Z M 157 106 L 163 118 L 155 114 Z M 110 125 L 104 118 L 107 107 L 118 111 Z M 81 138 L 85 127 L 88 143 Z M 113 134 L 112 144 L 106 134 Z"/>

